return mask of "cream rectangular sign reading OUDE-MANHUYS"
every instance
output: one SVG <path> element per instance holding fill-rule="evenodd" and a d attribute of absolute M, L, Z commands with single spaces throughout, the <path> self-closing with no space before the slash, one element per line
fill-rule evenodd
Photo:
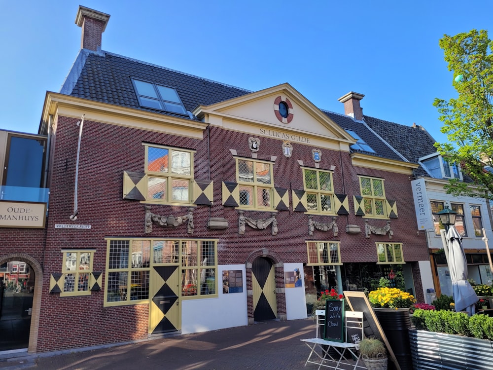
<path fill-rule="evenodd" d="M 0 201 L 0 227 L 43 228 L 46 203 Z"/>

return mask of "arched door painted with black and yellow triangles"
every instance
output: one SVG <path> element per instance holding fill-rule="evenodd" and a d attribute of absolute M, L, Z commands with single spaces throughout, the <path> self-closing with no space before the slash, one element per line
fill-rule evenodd
<path fill-rule="evenodd" d="M 254 321 L 276 319 L 276 273 L 271 259 L 259 257 L 253 260 L 251 281 Z"/>

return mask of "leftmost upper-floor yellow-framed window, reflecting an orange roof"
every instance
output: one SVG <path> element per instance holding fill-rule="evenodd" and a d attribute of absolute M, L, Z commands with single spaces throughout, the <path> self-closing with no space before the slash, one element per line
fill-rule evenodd
<path fill-rule="evenodd" d="M 192 150 L 144 144 L 146 200 L 156 203 L 191 203 Z"/>

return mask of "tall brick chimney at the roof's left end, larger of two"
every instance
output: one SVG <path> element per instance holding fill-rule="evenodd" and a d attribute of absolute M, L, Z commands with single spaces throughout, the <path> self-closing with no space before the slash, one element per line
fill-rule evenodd
<path fill-rule="evenodd" d="M 93 51 L 101 49 L 101 37 L 105 32 L 108 20 L 109 14 L 79 5 L 75 24 L 82 27 L 82 39 L 80 42 L 82 49 Z"/>

